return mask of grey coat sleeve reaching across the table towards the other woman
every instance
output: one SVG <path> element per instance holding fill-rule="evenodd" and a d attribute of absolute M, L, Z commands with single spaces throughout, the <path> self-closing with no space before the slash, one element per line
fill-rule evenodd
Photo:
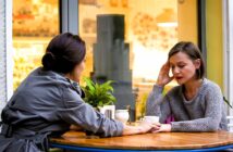
<path fill-rule="evenodd" d="M 71 88 L 62 90 L 63 104 L 59 111 L 60 117 L 69 124 L 82 126 L 84 129 L 102 137 L 121 136 L 123 124 L 110 119 L 85 103 L 81 96 Z"/>

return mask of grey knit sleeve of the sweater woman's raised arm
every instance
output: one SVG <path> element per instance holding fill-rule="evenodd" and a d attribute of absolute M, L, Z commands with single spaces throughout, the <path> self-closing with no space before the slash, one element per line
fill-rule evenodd
<path fill-rule="evenodd" d="M 155 85 L 146 103 L 146 115 L 159 116 L 159 122 L 164 123 L 171 115 L 168 96 L 162 96 L 163 87 Z"/>

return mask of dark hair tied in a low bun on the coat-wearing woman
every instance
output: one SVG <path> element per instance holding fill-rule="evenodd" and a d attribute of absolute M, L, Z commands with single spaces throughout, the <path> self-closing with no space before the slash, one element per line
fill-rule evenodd
<path fill-rule="evenodd" d="M 44 69 L 68 74 L 84 60 L 85 54 L 85 42 L 79 36 L 71 33 L 60 34 L 46 49 L 42 56 Z"/>

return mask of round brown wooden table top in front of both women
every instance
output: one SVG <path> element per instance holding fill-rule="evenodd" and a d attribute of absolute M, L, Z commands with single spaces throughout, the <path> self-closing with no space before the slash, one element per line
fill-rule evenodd
<path fill-rule="evenodd" d="M 82 131 L 69 131 L 52 143 L 100 149 L 169 150 L 204 149 L 233 144 L 233 134 L 217 132 L 157 132 L 111 138 L 88 137 Z"/>

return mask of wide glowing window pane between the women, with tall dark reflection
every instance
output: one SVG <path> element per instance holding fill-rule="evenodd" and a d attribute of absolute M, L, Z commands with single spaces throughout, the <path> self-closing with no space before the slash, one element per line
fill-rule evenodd
<path fill-rule="evenodd" d="M 79 0 L 79 35 L 87 45 L 85 76 L 115 80 L 116 109 L 137 106 L 177 42 L 176 0 Z M 90 13 L 91 12 L 91 13 Z"/>

